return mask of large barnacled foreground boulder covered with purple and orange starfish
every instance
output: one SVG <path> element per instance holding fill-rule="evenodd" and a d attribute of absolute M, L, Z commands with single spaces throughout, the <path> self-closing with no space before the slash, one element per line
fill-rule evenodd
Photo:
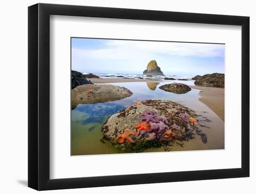
<path fill-rule="evenodd" d="M 186 114 L 194 122 L 184 120 Z M 192 120 L 192 119 L 190 119 Z M 113 114 L 102 126 L 104 136 L 122 150 L 142 151 L 177 140 L 193 139 L 196 130 L 193 110 L 170 100 L 146 100 Z M 122 140 L 119 138 L 122 137 Z M 128 140 L 126 140 L 128 139 Z"/>

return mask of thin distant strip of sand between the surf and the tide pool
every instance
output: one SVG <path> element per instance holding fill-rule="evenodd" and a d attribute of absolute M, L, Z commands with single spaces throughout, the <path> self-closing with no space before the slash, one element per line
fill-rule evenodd
<path fill-rule="evenodd" d="M 87 78 L 94 84 L 107 84 L 107 83 L 120 83 L 120 82 L 162 82 L 162 80 L 156 79 L 124 79 L 124 78 Z"/>

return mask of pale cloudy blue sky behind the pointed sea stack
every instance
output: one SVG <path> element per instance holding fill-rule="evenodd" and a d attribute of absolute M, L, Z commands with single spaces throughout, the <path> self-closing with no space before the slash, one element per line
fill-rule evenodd
<path fill-rule="evenodd" d="M 142 74 L 156 60 L 165 75 L 224 73 L 225 45 L 72 38 L 72 70 Z"/>

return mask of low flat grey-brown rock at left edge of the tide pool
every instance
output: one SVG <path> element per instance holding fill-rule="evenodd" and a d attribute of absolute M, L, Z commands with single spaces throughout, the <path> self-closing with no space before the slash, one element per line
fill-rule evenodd
<path fill-rule="evenodd" d="M 78 104 L 94 104 L 120 100 L 133 93 L 125 87 L 113 85 L 84 84 L 71 91 L 72 109 Z"/>

